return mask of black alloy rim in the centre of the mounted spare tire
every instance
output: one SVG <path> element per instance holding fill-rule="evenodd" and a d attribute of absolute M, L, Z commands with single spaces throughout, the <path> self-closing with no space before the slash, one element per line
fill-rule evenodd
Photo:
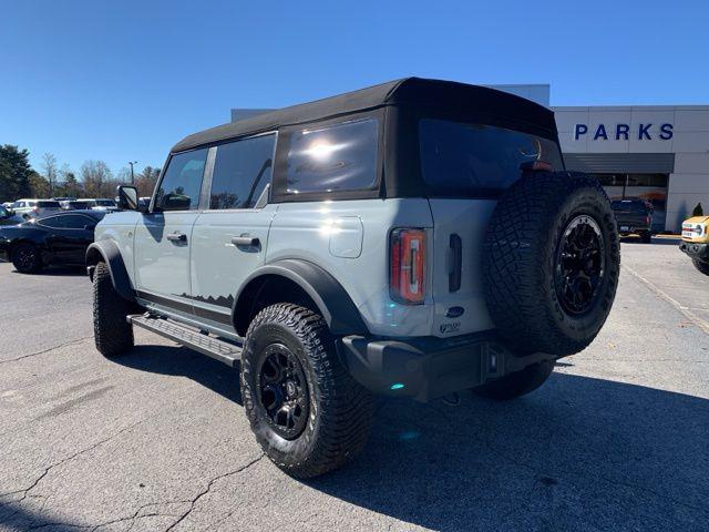
<path fill-rule="evenodd" d="M 605 273 L 600 227 L 588 215 L 574 217 L 562 233 L 554 264 L 554 285 L 562 308 L 586 314 L 597 299 Z"/>

